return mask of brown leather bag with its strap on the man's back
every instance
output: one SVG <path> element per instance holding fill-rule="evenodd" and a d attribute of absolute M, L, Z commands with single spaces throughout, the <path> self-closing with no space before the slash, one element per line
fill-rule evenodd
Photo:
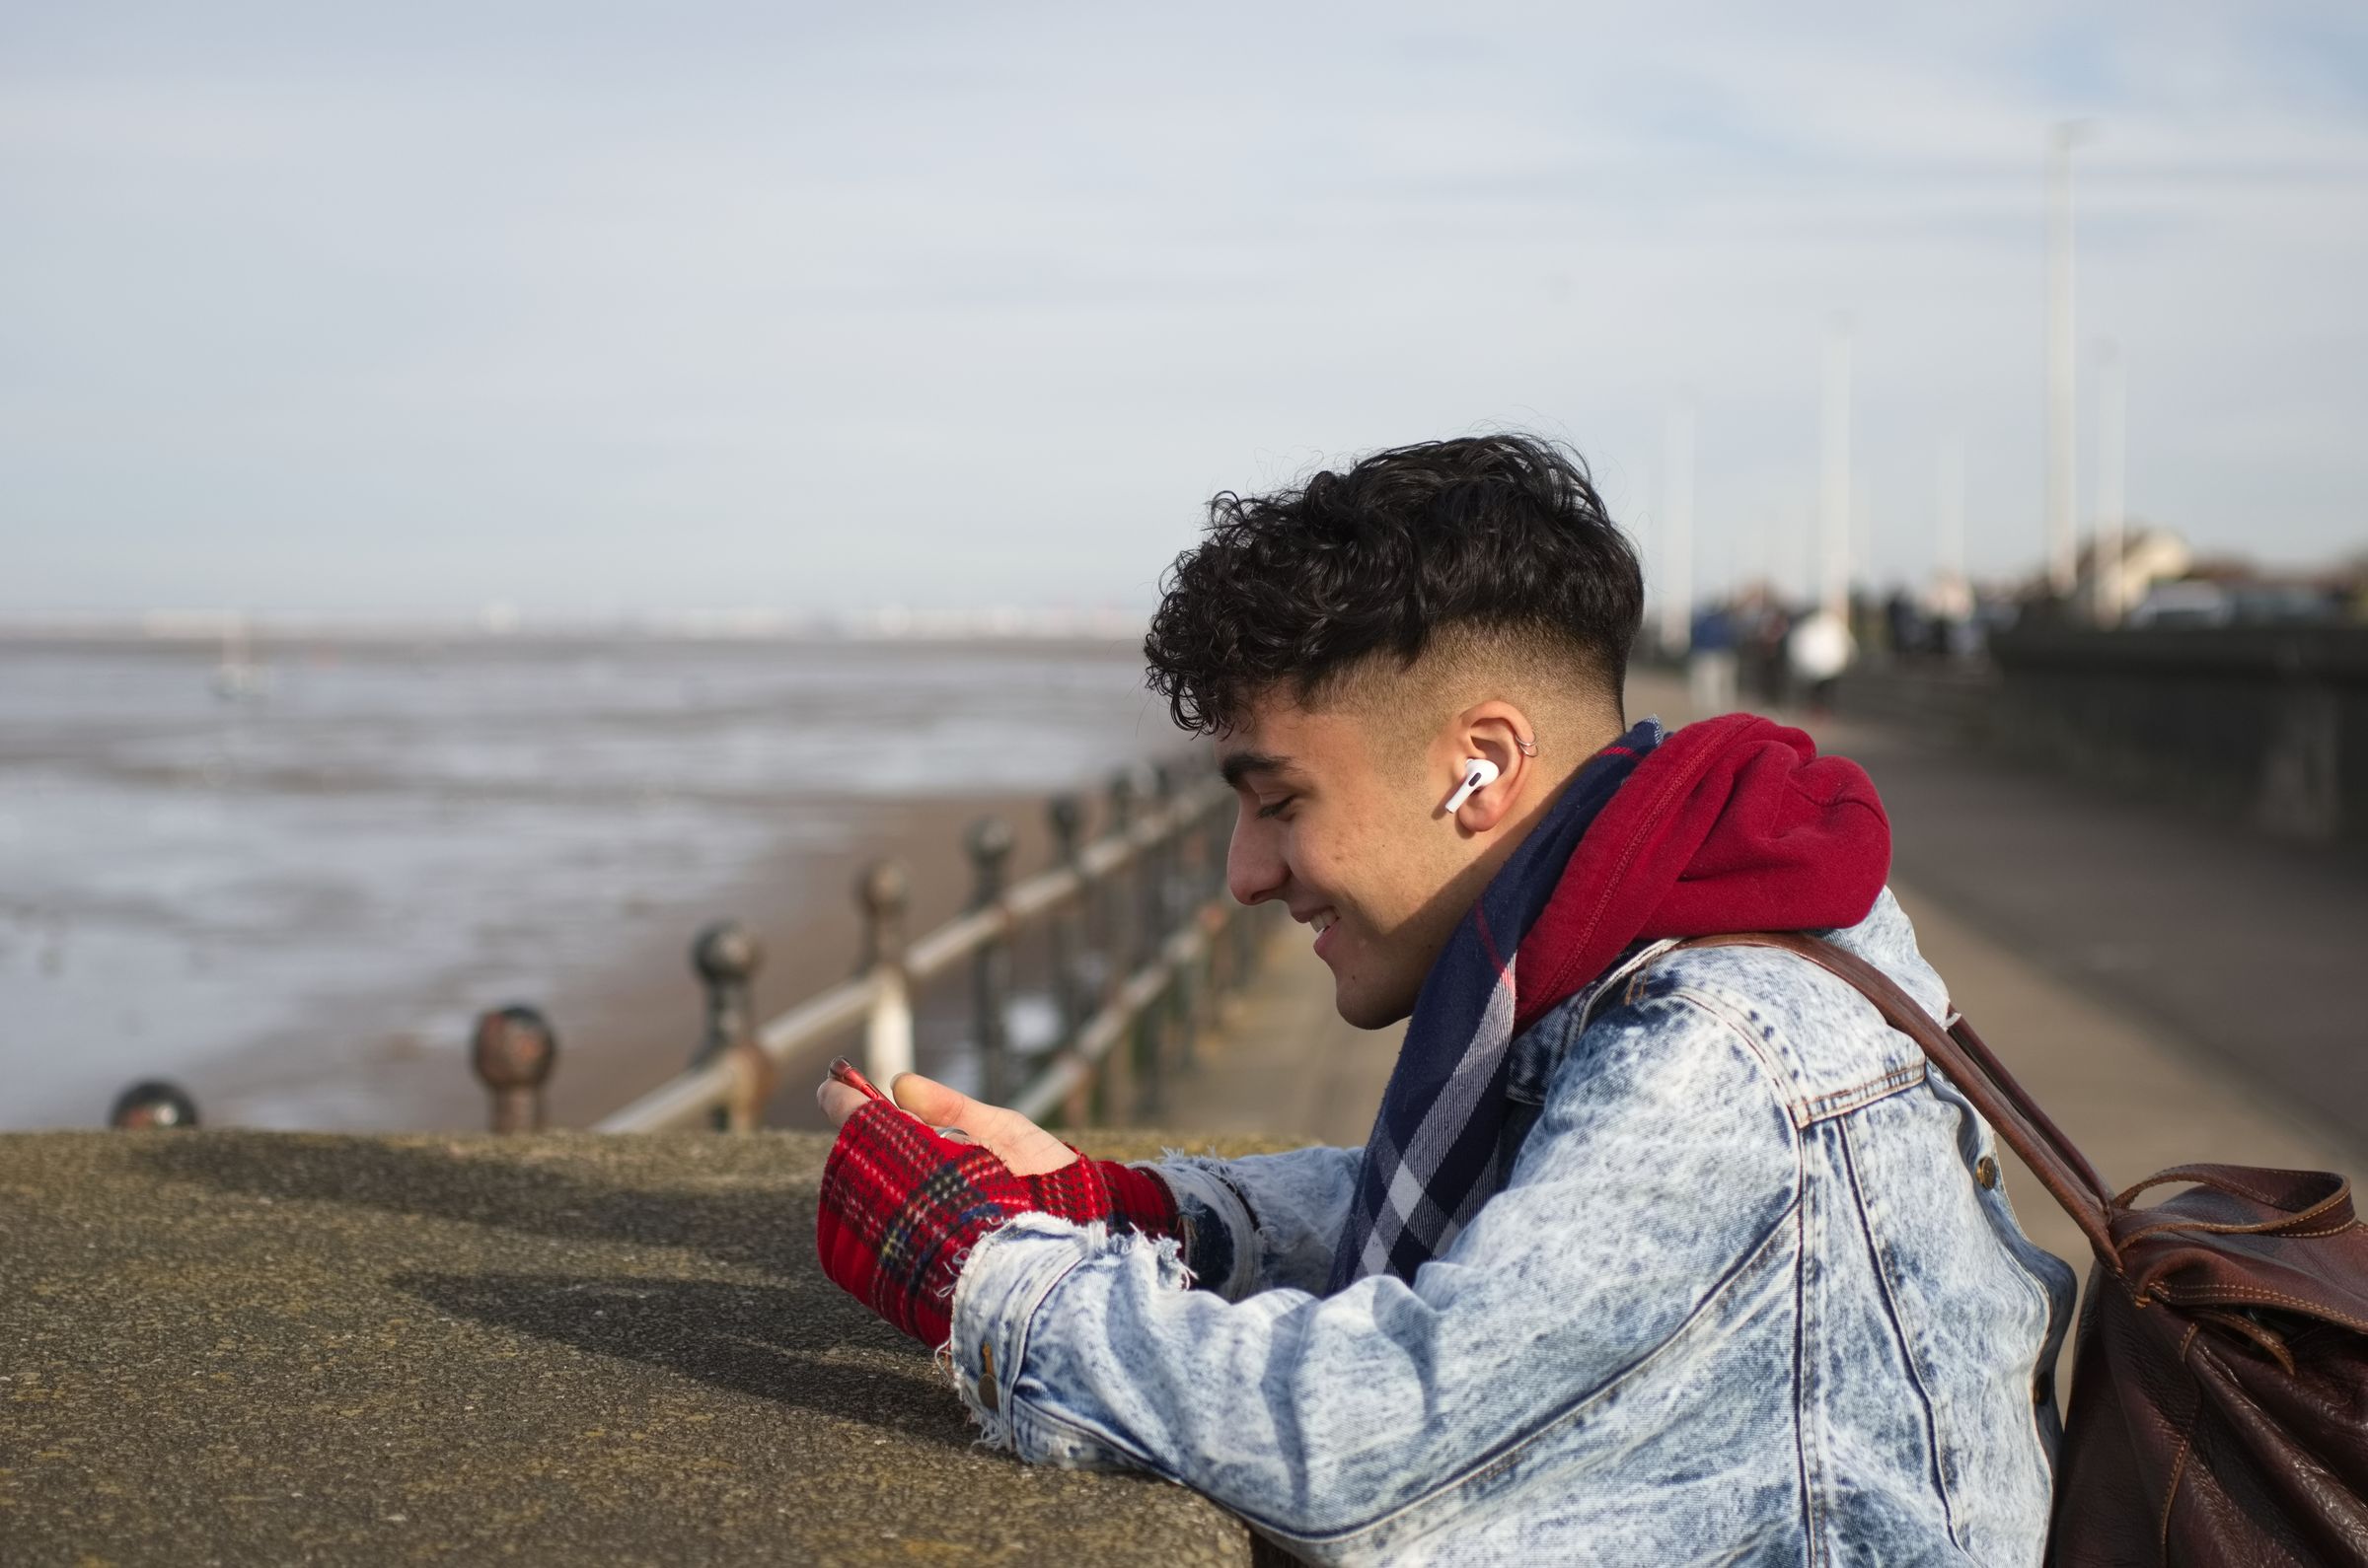
<path fill-rule="evenodd" d="M 1857 985 L 2089 1236 L 2048 1563 L 2368 1563 L 2368 1227 L 2344 1177 L 2174 1165 L 2115 1194 L 1968 1023 L 1873 964 L 1797 933 L 1681 945 L 1783 947 Z"/>

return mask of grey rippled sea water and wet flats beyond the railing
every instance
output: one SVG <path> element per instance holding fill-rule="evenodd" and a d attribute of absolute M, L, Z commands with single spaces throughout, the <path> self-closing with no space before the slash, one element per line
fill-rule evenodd
<path fill-rule="evenodd" d="M 450 1045 L 462 997 L 658 940 L 637 914 L 829 836 L 834 801 L 1089 786 L 1175 746 L 1113 644 L 0 642 L 0 1127 L 258 1052 Z M 296 1082 L 230 1118 L 384 1116 Z"/>

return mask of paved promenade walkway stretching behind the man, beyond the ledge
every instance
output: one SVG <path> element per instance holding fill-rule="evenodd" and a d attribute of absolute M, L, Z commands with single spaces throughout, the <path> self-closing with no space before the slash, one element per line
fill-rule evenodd
<path fill-rule="evenodd" d="M 1629 715 L 1643 713 L 1693 718 L 1658 673 L 1629 685 Z M 2368 1172 L 2368 879 L 1883 727 L 1783 718 L 1868 767 L 1925 957 L 2105 1180 L 2188 1161 Z M 1331 971 L 1298 938 L 1165 1120 L 1364 1142 L 1404 1030 L 1343 1023 Z M 2086 1272 L 2079 1232 L 2020 1163 L 2008 1191 L 2032 1239 Z"/>

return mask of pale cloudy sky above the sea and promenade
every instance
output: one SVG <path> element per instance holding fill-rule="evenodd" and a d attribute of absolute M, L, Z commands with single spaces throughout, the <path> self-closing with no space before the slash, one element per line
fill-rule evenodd
<path fill-rule="evenodd" d="M 2129 507 L 2368 547 L 2368 9 L 0 0 L 0 613 L 1115 606 L 1565 438 L 1658 561 L 2034 566 L 2044 144 Z"/>

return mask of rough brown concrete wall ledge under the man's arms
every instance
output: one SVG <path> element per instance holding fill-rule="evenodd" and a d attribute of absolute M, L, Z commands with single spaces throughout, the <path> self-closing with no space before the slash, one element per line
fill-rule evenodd
<path fill-rule="evenodd" d="M 0 1561 L 1250 1561 L 973 1447 L 815 1267 L 826 1146 L 0 1137 Z"/>

